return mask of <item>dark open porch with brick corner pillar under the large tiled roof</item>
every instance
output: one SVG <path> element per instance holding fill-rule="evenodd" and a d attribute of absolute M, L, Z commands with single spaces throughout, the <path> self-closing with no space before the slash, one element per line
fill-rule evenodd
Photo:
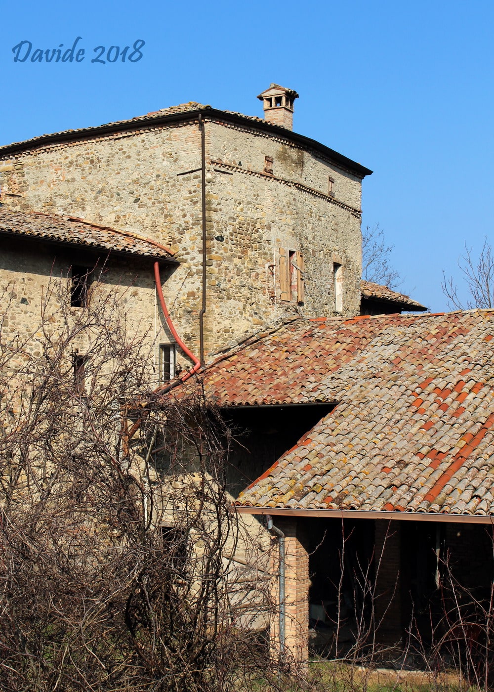
<path fill-rule="evenodd" d="M 491 518 L 277 509 L 272 519 L 284 534 L 284 556 L 274 565 L 279 575 L 283 558 L 284 585 L 278 579 L 275 595 L 284 626 L 280 635 L 275 618 L 271 636 L 286 657 L 421 667 L 431 657 L 475 665 L 487 655 Z"/>

